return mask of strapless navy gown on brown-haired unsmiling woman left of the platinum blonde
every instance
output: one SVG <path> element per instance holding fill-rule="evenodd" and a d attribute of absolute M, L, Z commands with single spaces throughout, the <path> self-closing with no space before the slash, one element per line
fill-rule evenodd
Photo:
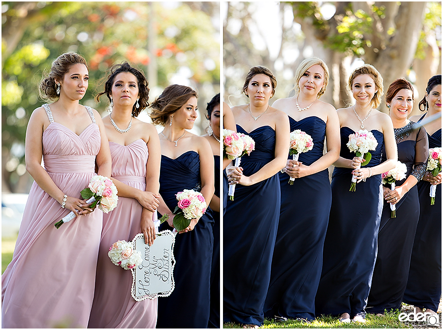
<path fill-rule="evenodd" d="M 250 135 L 255 150 L 240 166 L 251 176 L 275 157 L 275 131 L 261 126 Z M 263 324 L 263 305 L 280 214 L 278 174 L 251 186 L 236 185 L 223 217 L 223 321 Z"/>

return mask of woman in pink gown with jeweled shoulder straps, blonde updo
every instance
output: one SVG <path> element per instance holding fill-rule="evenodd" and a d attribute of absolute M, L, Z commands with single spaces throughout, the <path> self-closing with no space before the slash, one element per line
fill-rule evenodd
<path fill-rule="evenodd" d="M 40 82 L 42 97 L 57 101 L 35 109 L 26 132 L 26 168 L 35 182 L 13 259 L 1 276 L 3 328 L 88 325 L 102 212 L 92 212 L 80 191 L 95 175 L 95 162 L 99 175 L 111 175 L 103 122 L 79 104 L 88 79 L 83 57 L 67 53 Z M 79 216 L 56 229 L 70 211 Z"/>

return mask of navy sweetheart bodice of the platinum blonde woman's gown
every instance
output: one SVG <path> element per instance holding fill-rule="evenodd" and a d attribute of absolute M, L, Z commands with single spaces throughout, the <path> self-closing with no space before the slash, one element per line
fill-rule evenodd
<path fill-rule="evenodd" d="M 300 129 L 311 135 L 314 143 L 312 150 L 300 153 L 299 161 L 309 166 L 323 156 L 326 123 L 321 118 L 311 116 L 301 120 L 295 120 L 289 117 L 289 124 L 291 132 L 295 129 Z M 289 156 L 288 159 L 292 159 L 292 156 Z"/>

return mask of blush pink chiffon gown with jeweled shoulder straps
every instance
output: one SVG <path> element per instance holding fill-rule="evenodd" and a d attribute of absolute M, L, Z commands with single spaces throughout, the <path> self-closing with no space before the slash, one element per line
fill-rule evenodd
<path fill-rule="evenodd" d="M 44 167 L 68 196 L 80 191 L 95 175 L 100 132 L 93 121 L 80 135 L 50 120 L 43 132 Z M 54 223 L 70 210 L 32 184 L 14 255 L 1 276 L 2 328 L 86 328 L 94 298 L 95 269 L 102 212 Z"/>

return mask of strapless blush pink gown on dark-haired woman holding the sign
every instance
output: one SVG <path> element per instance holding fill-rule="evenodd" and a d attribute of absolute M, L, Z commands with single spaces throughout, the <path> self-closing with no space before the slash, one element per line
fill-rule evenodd
<path fill-rule="evenodd" d="M 146 188 L 148 147 L 142 139 L 122 146 L 109 142 L 112 177 L 134 188 Z M 103 214 L 98 253 L 95 297 L 88 328 L 155 328 L 157 299 L 135 301 L 131 296 L 130 270 L 114 265 L 109 247 L 118 240 L 131 241 L 140 233 L 143 207 L 133 198 L 119 197 L 117 207 Z M 155 214 L 155 219 L 157 215 Z"/>

